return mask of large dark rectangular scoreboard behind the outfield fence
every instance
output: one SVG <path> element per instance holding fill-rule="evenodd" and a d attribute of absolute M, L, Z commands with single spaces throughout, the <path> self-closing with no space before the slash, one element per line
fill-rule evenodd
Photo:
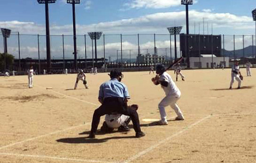
<path fill-rule="evenodd" d="M 188 45 L 186 40 L 188 39 Z M 186 56 L 186 47 L 189 47 L 189 57 L 200 57 L 201 54 L 214 54 L 221 57 L 221 35 L 180 34 L 180 50 Z"/>

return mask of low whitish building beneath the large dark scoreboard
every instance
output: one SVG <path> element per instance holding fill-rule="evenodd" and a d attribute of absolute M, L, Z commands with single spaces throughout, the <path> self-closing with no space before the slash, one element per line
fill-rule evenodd
<path fill-rule="evenodd" d="M 213 68 L 213 65 L 217 68 L 221 64 L 229 67 L 229 57 L 216 57 L 214 54 L 201 54 L 201 57 L 190 57 L 190 67 L 192 69 Z"/>

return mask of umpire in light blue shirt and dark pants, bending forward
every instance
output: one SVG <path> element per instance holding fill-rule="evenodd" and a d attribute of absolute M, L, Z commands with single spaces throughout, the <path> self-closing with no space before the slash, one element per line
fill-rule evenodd
<path fill-rule="evenodd" d="M 115 69 L 112 70 L 109 75 L 111 79 L 100 86 L 99 102 L 101 106 L 93 113 L 89 137 L 95 137 L 102 115 L 118 113 L 130 116 L 136 137 L 144 137 L 145 134 L 141 131 L 139 126 L 137 111 L 127 107 L 130 96 L 127 87 L 121 83 L 123 74 Z"/>

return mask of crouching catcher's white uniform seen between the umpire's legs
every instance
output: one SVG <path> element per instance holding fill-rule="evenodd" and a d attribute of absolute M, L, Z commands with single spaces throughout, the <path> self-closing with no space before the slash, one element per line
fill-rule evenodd
<path fill-rule="evenodd" d="M 130 117 L 123 114 L 106 114 L 105 121 L 109 128 L 118 129 Z"/>

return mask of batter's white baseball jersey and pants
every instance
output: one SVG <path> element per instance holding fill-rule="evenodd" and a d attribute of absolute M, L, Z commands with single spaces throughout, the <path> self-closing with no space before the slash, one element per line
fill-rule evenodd
<path fill-rule="evenodd" d="M 179 88 L 176 86 L 174 83 L 172 77 L 167 73 L 164 72 L 160 77 L 160 81 L 166 81 L 168 82 L 168 86 L 162 86 L 161 87 L 165 91 L 165 97 L 162 99 L 162 101 L 158 104 L 160 116 L 161 116 L 161 121 L 164 123 L 167 123 L 166 120 L 166 113 L 165 113 L 165 107 L 166 106 L 171 106 L 175 113 L 177 114 L 179 119 L 184 119 L 183 114 L 179 108 L 179 106 L 176 104 L 176 102 L 180 99 L 181 97 L 181 91 Z"/>

